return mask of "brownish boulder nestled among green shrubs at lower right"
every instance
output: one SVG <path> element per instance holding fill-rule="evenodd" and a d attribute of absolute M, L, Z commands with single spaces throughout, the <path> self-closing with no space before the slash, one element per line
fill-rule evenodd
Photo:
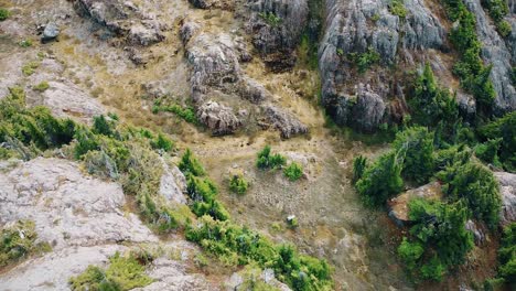
<path fill-rule="evenodd" d="M 395 220 L 399 226 L 410 223 L 408 216 L 408 203 L 413 198 L 440 200 L 442 197 L 442 190 L 439 182 L 433 182 L 418 188 L 409 190 L 397 197 L 388 201 L 389 217 Z"/>

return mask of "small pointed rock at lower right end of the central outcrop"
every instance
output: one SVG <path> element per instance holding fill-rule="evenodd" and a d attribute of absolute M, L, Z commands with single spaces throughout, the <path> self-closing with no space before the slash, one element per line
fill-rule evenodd
<path fill-rule="evenodd" d="M 308 127 L 290 112 L 272 105 L 264 106 L 264 111 L 272 127 L 278 129 L 284 139 L 308 132 Z"/>

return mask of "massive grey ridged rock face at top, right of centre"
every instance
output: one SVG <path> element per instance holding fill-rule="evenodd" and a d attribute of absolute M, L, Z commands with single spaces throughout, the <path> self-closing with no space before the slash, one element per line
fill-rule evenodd
<path fill-rule="evenodd" d="M 374 75 L 356 74 L 347 55 L 373 50 L 383 66 L 399 58 L 417 65 L 423 61 L 421 51 L 444 46 L 445 30 L 424 1 L 404 3 L 407 15 L 401 21 L 389 12 L 389 1 L 326 1 L 326 29 L 319 51 L 322 104 L 337 123 L 373 131 L 383 120 L 399 118 L 391 115 L 399 115 L 400 108 L 390 108 L 388 99 L 397 96 L 398 103 L 405 103 L 402 96 L 393 94 L 404 84 L 391 73 L 374 68 Z M 357 83 L 365 85 L 356 87 Z"/>

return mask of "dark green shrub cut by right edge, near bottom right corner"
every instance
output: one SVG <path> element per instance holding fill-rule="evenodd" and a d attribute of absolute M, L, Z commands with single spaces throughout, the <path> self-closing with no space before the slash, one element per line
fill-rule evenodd
<path fill-rule="evenodd" d="M 504 228 L 498 260 L 498 274 L 507 284 L 516 283 L 516 223 Z"/>

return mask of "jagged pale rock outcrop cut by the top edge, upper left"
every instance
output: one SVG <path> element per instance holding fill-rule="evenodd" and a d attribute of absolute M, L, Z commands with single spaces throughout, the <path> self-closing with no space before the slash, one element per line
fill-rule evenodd
<path fill-rule="evenodd" d="M 88 17 L 130 44 L 150 45 L 164 40 L 161 24 L 132 1 L 75 0 L 80 15 Z"/>

